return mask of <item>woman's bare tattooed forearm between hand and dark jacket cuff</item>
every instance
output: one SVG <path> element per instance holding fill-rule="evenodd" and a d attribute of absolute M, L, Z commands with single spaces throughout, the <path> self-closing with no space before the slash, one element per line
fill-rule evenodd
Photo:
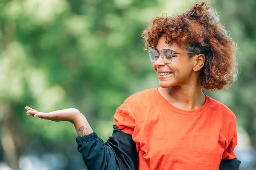
<path fill-rule="evenodd" d="M 79 137 L 93 133 L 92 128 L 82 113 L 76 117 L 76 119 L 73 121 L 73 124 Z"/>

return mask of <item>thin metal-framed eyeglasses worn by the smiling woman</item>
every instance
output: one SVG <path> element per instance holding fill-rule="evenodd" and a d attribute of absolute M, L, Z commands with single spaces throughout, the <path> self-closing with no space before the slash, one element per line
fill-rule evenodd
<path fill-rule="evenodd" d="M 150 61 L 155 63 L 159 56 L 161 56 L 164 63 L 171 63 L 172 57 L 175 57 L 175 54 L 189 54 L 189 53 L 195 53 L 195 52 L 188 52 L 188 53 L 173 53 L 171 49 L 163 49 L 160 53 L 157 51 L 157 49 L 150 49 L 148 51 Z"/>

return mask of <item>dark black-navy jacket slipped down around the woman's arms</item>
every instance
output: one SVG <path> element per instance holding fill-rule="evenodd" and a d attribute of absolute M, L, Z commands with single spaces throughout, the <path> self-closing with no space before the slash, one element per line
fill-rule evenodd
<path fill-rule="evenodd" d="M 76 138 L 88 170 L 138 170 L 136 143 L 113 125 L 113 134 L 106 143 L 96 133 Z M 238 159 L 222 159 L 220 170 L 239 170 Z"/>

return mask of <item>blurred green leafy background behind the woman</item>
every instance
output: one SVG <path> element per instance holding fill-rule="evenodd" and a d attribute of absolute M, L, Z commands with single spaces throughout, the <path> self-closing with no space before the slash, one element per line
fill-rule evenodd
<path fill-rule="evenodd" d="M 103 140 L 131 94 L 158 86 L 141 31 L 154 16 L 177 15 L 195 0 L 0 0 L 0 170 L 86 170 L 69 122 L 26 116 L 77 108 Z M 256 148 L 256 0 L 218 0 L 238 45 L 239 79 L 205 91 L 237 117 L 241 169 Z M 255 165 L 254 165 L 255 166 Z"/>

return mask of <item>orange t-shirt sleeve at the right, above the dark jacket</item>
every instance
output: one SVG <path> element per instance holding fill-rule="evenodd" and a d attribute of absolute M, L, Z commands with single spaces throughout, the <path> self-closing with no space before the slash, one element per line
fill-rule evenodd
<path fill-rule="evenodd" d="M 233 136 L 231 137 L 231 140 L 229 144 L 227 145 L 227 148 L 225 148 L 224 153 L 222 155 L 222 159 L 237 159 L 234 149 L 237 145 L 237 133 L 234 132 Z"/>

